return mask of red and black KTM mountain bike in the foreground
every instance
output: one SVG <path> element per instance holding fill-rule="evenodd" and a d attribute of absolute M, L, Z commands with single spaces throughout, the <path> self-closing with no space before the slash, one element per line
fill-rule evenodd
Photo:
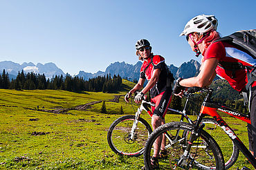
<path fill-rule="evenodd" d="M 201 88 L 201 91 L 206 93 L 206 95 L 204 97 L 203 103 L 201 104 L 201 111 L 199 112 L 199 115 L 197 116 L 194 124 L 188 124 L 185 122 L 171 122 L 158 127 L 153 133 L 151 133 L 151 135 L 149 135 L 149 138 L 145 144 L 144 153 L 144 162 L 146 169 L 152 169 L 150 158 L 154 153 L 153 144 L 156 139 L 163 134 L 167 136 L 167 145 L 165 146 L 165 150 L 167 150 L 170 160 L 168 162 L 159 162 L 161 168 L 171 167 L 171 169 L 190 169 L 191 167 L 199 167 L 201 169 L 219 169 L 219 167 L 214 167 L 214 164 L 209 163 L 212 162 L 210 161 L 213 158 L 212 153 L 209 153 L 207 156 L 209 162 L 204 162 L 207 161 L 206 159 L 201 160 L 201 162 L 203 161 L 203 166 L 201 166 L 201 162 L 199 162 L 200 159 L 197 158 L 199 155 L 201 155 L 201 152 L 199 150 L 193 149 L 193 146 L 196 146 L 196 144 L 198 144 L 199 149 L 199 144 L 205 142 L 204 145 L 202 144 L 202 147 L 204 147 L 203 150 L 205 152 L 208 152 L 208 149 L 214 149 L 215 147 L 219 147 L 218 144 L 221 142 L 220 140 L 218 144 L 210 144 L 209 142 L 207 142 L 206 138 L 208 138 L 209 136 L 207 137 L 207 135 L 205 135 L 205 131 L 203 130 L 203 117 L 205 115 L 210 115 L 214 119 L 214 121 L 217 122 L 217 124 L 221 127 L 221 129 L 223 129 L 222 131 L 225 132 L 226 135 L 228 135 L 230 138 L 230 140 L 227 140 L 226 135 L 223 135 L 222 140 L 225 140 L 225 142 L 232 141 L 232 146 L 226 149 L 232 150 L 231 157 L 230 155 L 228 155 L 228 157 L 231 158 L 230 161 L 235 163 L 234 161 L 237 160 L 239 154 L 239 151 L 237 151 L 237 149 L 239 149 L 242 153 L 244 153 L 244 155 L 250 161 L 253 167 L 256 167 L 256 161 L 255 158 L 253 158 L 253 155 L 250 153 L 250 151 L 248 151 L 243 142 L 239 140 L 235 132 L 230 128 L 230 126 L 228 126 L 228 124 L 226 124 L 226 122 L 221 118 L 217 111 L 227 113 L 228 115 L 231 115 L 232 117 L 238 118 L 239 120 L 242 120 L 249 124 L 250 117 L 243 113 L 239 113 L 238 111 L 235 111 L 234 109 L 227 106 L 215 104 L 214 102 L 212 102 L 210 100 L 210 97 L 212 96 L 211 88 Z M 210 131 L 211 130 L 212 129 L 210 129 Z M 214 133 L 212 133 L 211 135 L 214 136 Z M 216 136 L 214 136 L 213 138 L 215 139 Z M 202 141 L 202 139 L 204 141 Z M 219 155 L 214 156 L 219 157 Z M 215 161 L 219 160 L 221 161 L 221 159 L 215 158 Z M 221 164 L 221 162 L 217 162 L 216 166 L 219 164 Z M 227 167 L 225 168 L 227 169 Z"/>

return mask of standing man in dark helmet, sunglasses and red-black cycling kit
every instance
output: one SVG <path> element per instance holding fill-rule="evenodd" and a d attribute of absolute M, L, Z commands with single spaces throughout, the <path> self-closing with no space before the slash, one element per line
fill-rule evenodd
<path fill-rule="evenodd" d="M 171 102 L 173 83 L 172 73 L 165 64 L 165 59 L 160 55 L 153 55 L 152 47 L 147 39 L 140 39 L 136 43 L 136 55 L 143 61 L 143 65 L 140 68 L 140 79 L 134 88 L 125 95 L 125 101 L 129 102 L 131 94 L 143 88 L 145 79 L 147 79 L 147 85 L 143 88 L 138 95 L 135 96 L 135 102 L 139 103 L 144 95 L 149 91 L 151 101 L 156 104 L 152 106 L 152 127 L 156 129 L 158 126 L 165 124 L 165 114 L 167 112 L 167 106 Z M 163 139 L 162 139 L 163 138 Z M 158 167 L 158 159 L 167 156 L 165 147 L 165 136 L 158 139 L 158 144 L 154 145 L 155 153 L 152 158 L 152 165 Z M 159 151 L 161 150 L 160 154 Z"/>

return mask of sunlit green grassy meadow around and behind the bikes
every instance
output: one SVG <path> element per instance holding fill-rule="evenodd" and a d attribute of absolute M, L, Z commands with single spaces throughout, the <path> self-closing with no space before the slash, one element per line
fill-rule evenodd
<path fill-rule="evenodd" d="M 127 89 L 134 85 L 127 81 L 123 83 Z M 121 116 L 121 106 L 126 115 L 133 115 L 137 109 L 136 105 L 133 108 L 126 104 L 123 97 L 118 103 L 109 102 L 115 95 L 125 95 L 125 91 L 71 93 L 0 89 L 0 169 L 141 169 L 143 155 L 139 158 L 121 157 L 107 144 L 107 131 Z M 107 114 L 100 113 L 102 102 L 91 105 L 86 111 L 40 111 L 74 108 L 101 100 L 106 101 Z M 147 113 L 142 117 L 148 122 L 151 120 Z M 177 115 L 166 115 L 166 122 L 177 120 Z M 231 117 L 226 120 L 248 146 L 246 124 Z M 244 165 L 250 167 L 240 153 L 231 169 Z"/>

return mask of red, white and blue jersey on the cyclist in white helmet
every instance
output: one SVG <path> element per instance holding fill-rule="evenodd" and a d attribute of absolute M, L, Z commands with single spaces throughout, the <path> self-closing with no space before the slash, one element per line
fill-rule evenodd
<path fill-rule="evenodd" d="M 216 73 L 223 79 L 226 79 L 229 84 L 236 91 L 242 91 L 247 82 L 247 70 L 244 69 L 235 69 L 238 66 L 255 66 L 256 60 L 253 59 L 247 53 L 227 44 L 225 42 L 217 41 L 205 50 L 203 55 L 203 61 L 210 58 L 217 58 L 219 60 L 219 64 L 216 68 Z M 226 69 L 228 67 L 232 67 L 232 69 Z M 234 71 L 235 69 L 235 71 Z M 252 86 L 256 86 L 256 82 L 252 84 Z"/>

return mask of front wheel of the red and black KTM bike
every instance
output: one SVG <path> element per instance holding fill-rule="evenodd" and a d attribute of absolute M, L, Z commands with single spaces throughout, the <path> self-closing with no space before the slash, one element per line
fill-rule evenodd
<path fill-rule="evenodd" d="M 201 131 L 201 135 L 199 137 L 200 140 L 195 140 L 190 149 L 190 161 L 193 162 L 190 165 L 192 165 L 192 167 L 190 167 L 189 164 L 187 164 L 186 166 L 183 165 L 182 167 L 177 167 L 177 162 L 179 161 L 181 155 L 184 152 L 186 144 L 188 143 L 187 139 L 190 138 L 190 133 L 192 132 L 193 129 L 194 125 L 186 122 L 170 122 L 167 124 L 163 124 L 162 126 L 158 127 L 155 131 L 153 131 L 153 133 L 149 135 L 149 139 L 147 140 L 147 143 L 145 145 L 145 169 L 153 169 L 151 165 L 151 157 L 153 155 L 152 152 L 154 152 L 154 148 L 152 149 L 152 146 L 154 144 L 154 141 L 160 135 L 163 135 L 164 133 L 167 132 L 170 135 L 170 138 L 172 138 L 172 141 L 167 139 L 166 149 L 168 161 L 159 160 L 159 169 L 212 169 L 212 167 L 215 167 L 217 170 L 223 170 L 224 160 L 223 155 L 221 153 L 221 149 L 219 148 L 217 142 L 215 142 L 215 140 L 209 135 L 209 133 L 203 130 Z M 178 130 L 180 131 L 179 138 L 177 138 L 176 135 L 176 132 Z M 172 135 L 172 131 L 175 135 Z M 182 136 L 184 135 L 183 131 L 187 132 L 187 135 L 185 135 L 186 138 L 183 138 Z M 173 137 L 178 140 L 174 142 L 175 140 Z M 202 148 L 202 150 L 200 150 L 201 152 L 199 153 L 198 151 L 200 147 Z M 194 153 L 194 151 L 196 151 L 196 153 Z M 202 157 L 199 158 L 197 156 Z"/>

